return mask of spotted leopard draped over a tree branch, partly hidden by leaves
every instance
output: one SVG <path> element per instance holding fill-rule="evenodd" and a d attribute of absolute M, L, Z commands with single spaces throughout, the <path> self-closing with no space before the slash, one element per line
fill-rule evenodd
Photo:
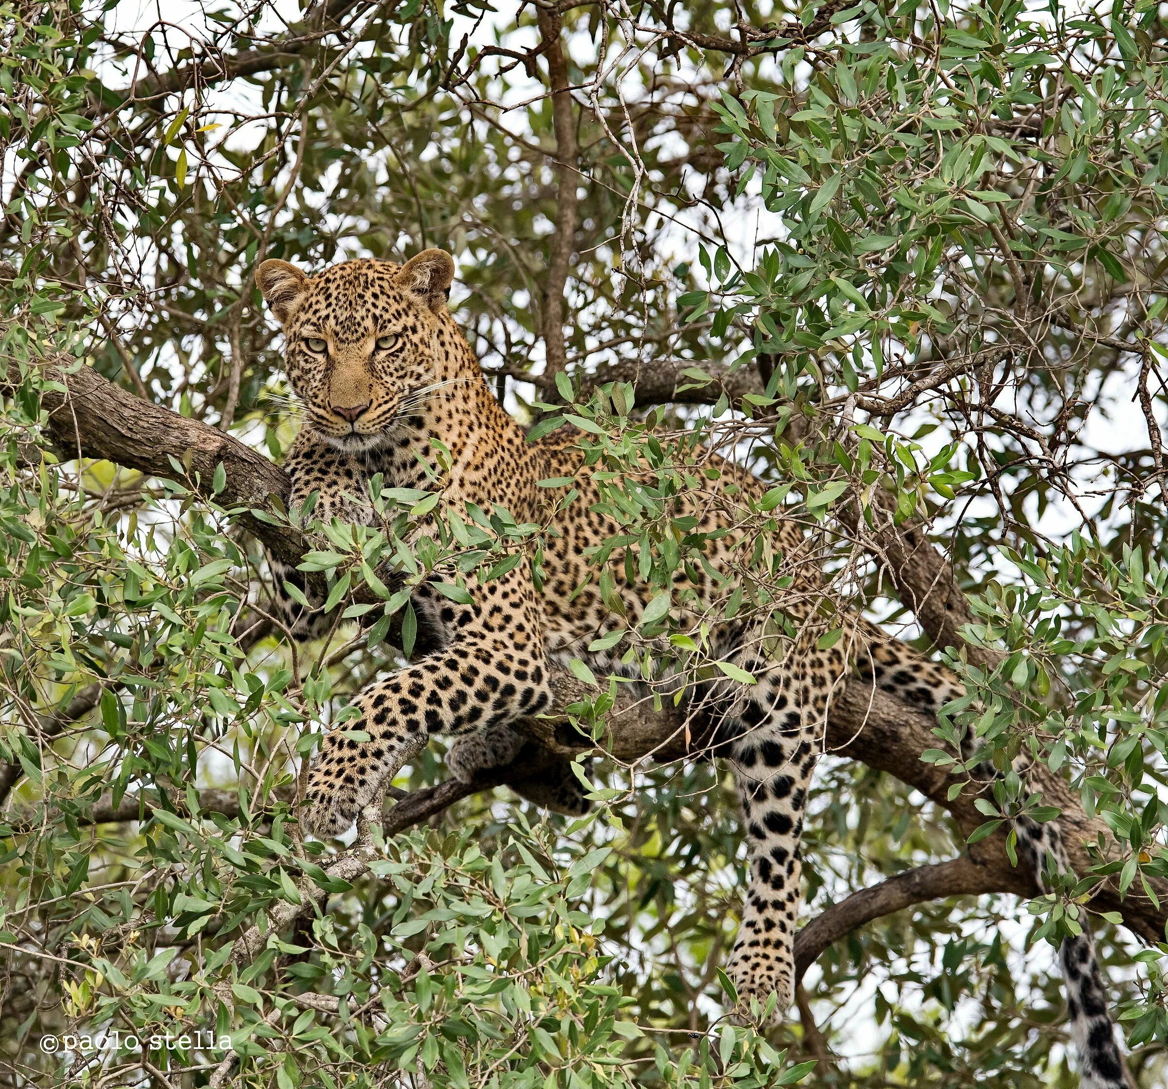
<path fill-rule="evenodd" d="M 529 738 L 521 723 L 551 709 L 555 668 L 578 661 L 644 684 L 654 647 L 660 657 L 676 653 L 652 636 L 628 652 L 660 591 L 641 577 L 638 539 L 606 491 L 605 463 L 586 464 L 584 432 L 570 425 L 531 441 L 500 403 L 451 313 L 454 273 L 453 257 L 439 249 L 404 263 L 342 261 L 315 275 L 269 258 L 256 271 L 303 407 L 284 463 L 293 511 L 310 509 L 321 523 L 374 525 L 369 487 L 380 477 L 439 494 L 440 509 L 463 519 L 502 511 L 513 525 L 543 530 L 538 563 L 534 546 L 523 546 L 526 562 L 495 577 L 466 575 L 465 597 L 442 592 L 438 573 L 413 588 L 413 656 L 354 696 L 354 717 L 325 734 L 312 762 L 299 820 L 320 838 L 378 806 L 431 737 L 450 742 L 449 771 L 465 783 L 522 761 Z M 710 740 L 707 751 L 729 762 L 737 785 L 749 887 L 728 976 L 742 1008 L 757 1012 L 774 996 L 770 1006 L 781 1015 L 794 985 L 799 846 L 832 701 L 858 678 L 937 714 L 965 688 L 944 664 L 860 615 L 833 618 L 822 546 L 783 506 L 759 516 L 770 485 L 732 457 L 693 448 L 684 486 L 672 492 L 652 466 L 642 469 L 625 477 L 632 504 L 668 508 L 691 535 L 693 555 L 675 569 L 668 604 L 672 616 L 690 618 L 688 630 L 702 629 L 707 663 L 693 684 L 682 670 L 659 680 L 686 700 Z M 433 526 L 419 528 L 426 532 Z M 274 556 L 267 563 L 285 630 L 319 636 L 332 619 L 305 574 Z M 762 611 L 726 608 L 744 578 L 770 602 Z M 605 638 L 614 625 L 624 629 L 616 644 Z M 565 758 L 540 767 L 509 781 L 520 796 L 561 813 L 588 811 L 585 778 Z M 1045 889 L 1066 865 L 1057 826 L 1023 817 L 1016 827 Z M 1082 1084 L 1119 1089 L 1124 1062 L 1089 929 L 1061 955 Z"/>

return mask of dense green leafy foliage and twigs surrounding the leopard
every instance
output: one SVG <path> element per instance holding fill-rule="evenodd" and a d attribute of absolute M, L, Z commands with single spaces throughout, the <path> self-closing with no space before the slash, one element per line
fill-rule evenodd
<path fill-rule="evenodd" d="M 1043 939 L 1084 924 L 1133 1074 L 1162 1083 L 1168 945 L 1086 902 L 1106 883 L 1159 911 L 1168 890 L 1163 19 L 0 4 L 0 1083 L 1072 1085 Z M 725 1017 L 745 855 L 721 765 L 603 763 L 572 823 L 500 789 L 350 848 L 304 841 L 298 761 L 411 622 L 299 647 L 241 624 L 262 552 L 214 501 L 225 479 L 50 442 L 63 387 L 41 365 L 279 459 L 296 404 L 256 263 L 427 245 L 456 255 L 451 305 L 507 408 L 540 431 L 566 410 L 605 460 L 642 578 L 667 588 L 701 543 L 621 502 L 646 449 L 662 476 L 695 439 L 732 451 L 772 485 L 758 525 L 805 519 L 839 601 L 927 647 L 877 532 L 887 511 L 924 523 L 964 637 L 999 653 L 946 633 L 971 694 L 913 758 L 954 791 L 964 731 L 1003 769 L 1044 763 L 1110 833 L 1091 868 L 1058 896 L 854 930 L 760 1034 Z M 333 527 L 308 563 L 342 620 L 367 584 L 401 622 L 370 566 L 392 554 Z M 765 578 L 726 609 L 744 596 L 767 608 Z M 396 785 L 442 781 L 440 752 Z M 978 807 L 965 830 L 826 758 L 805 915 L 1051 816 L 1017 776 Z M 327 910 L 267 931 L 310 887 Z"/>

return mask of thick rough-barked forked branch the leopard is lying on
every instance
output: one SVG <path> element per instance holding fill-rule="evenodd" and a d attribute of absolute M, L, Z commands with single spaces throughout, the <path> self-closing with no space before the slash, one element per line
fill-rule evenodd
<path fill-rule="evenodd" d="M 215 498 L 221 504 L 225 501 L 238 506 L 239 518 L 246 520 L 249 528 L 269 548 L 298 562 L 297 549 L 303 548 L 299 534 L 287 526 L 272 525 L 250 513 L 263 513 L 265 508 L 270 512 L 272 508 L 267 504 L 269 497 L 287 494 L 287 478 L 278 466 L 222 432 L 139 401 L 85 367 L 69 374 L 58 370 L 54 376 L 68 386 L 67 395 L 50 394 L 46 398 L 46 407 L 50 410 L 49 431 L 62 448 L 77 451 L 83 457 L 114 460 L 161 477 L 176 476 L 171 463 L 173 457 L 190 466 L 186 476 L 187 484 L 194 492 L 208 499 Z M 211 479 L 215 466 L 220 463 L 227 470 L 227 485 L 218 495 L 213 497 Z M 923 620 L 929 617 L 926 627 L 933 638 L 941 643 L 939 636 L 947 631 L 955 633 L 957 626 L 967 622 L 968 613 L 964 598 L 953 588 L 952 571 L 945 560 L 923 534 L 919 539 L 908 536 L 918 534 L 919 529 L 905 532 L 892 526 L 891 520 L 888 523 L 877 520 L 874 532 L 878 548 L 889 560 L 898 589 L 906 596 L 912 595 L 911 601 L 920 606 L 918 615 L 922 615 Z M 902 540 L 902 533 L 905 533 L 906 539 Z M 950 603 L 948 608 L 931 604 L 933 595 L 944 597 Z M 930 625 L 936 626 L 936 633 Z M 989 660 L 988 652 L 986 660 Z M 564 671 L 556 671 L 551 680 L 554 707 L 561 713 L 596 693 L 596 689 L 588 688 Z M 919 758 L 926 748 L 936 745 L 932 734 L 934 724 L 932 716 L 853 680 L 830 703 L 823 747 L 825 751 L 860 759 L 871 768 L 887 771 L 920 791 L 947 810 L 960 833 L 968 835 L 983 820 L 974 806 L 980 786 L 968 784 L 955 798 L 948 798 L 952 778 L 945 769 Z M 654 712 L 646 701 L 634 702 L 623 698 L 609 715 L 609 735 L 602 741 L 602 745 L 616 759 L 628 763 L 646 756 L 659 759 L 694 756 L 701 751 L 701 738 L 690 736 L 689 726 L 683 708 L 667 707 Z M 588 738 L 579 735 L 562 716 L 531 720 L 526 723 L 526 728 L 540 741 L 544 751 L 575 754 L 592 748 Z M 432 791 L 420 791 L 408 797 L 387 816 L 387 831 L 405 827 L 415 820 L 439 812 L 474 790 L 537 775 L 540 767 L 533 761 L 537 758 L 535 754 L 540 749 L 528 750 L 516 765 L 501 769 L 495 778 L 479 784 L 468 786 L 449 782 Z M 1094 841 L 1100 832 L 1104 833 L 1104 842 L 1113 841 L 1113 837 L 1100 821 L 1087 818 L 1077 795 L 1063 781 L 1052 776 L 1048 778 L 1049 783 L 1043 781 L 1047 800 L 1063 809 L 1069 860 L 1076 870 L 1086 872 L 1091 860 L 1084 844 Z M 341 856 L 335 863 L 338 873 L 363 873 L 368 861 L 359 862 L 363 858 L 362 849 L 355 847 Z M 941 878 L 948 875 L 946 880 L 953 882 L 951 885 L 945 885 L 938 878 L 929 880 L 937 882 L 936 887 L 941 889 L 968 888 L 979 893 L 1004 890 L 1018 895 L 1033 895 L 1037 892 L 1033 878 L 1009 862 L 1002 834 L 989 837 L 972 847 L 969 860 L 962 866 L 966 868 L 959 868 L 954 863 L 948 869 L 930 872 L 939 873 Z M 975 870 L 968 867 L 974 867 Z M 972 882 L 974 872 L 982 875 L 976 889 Z M 961 885 L 958 878 L 968 879 L 968 885 Z M 883 899 L 876 903 L 889 904 L 897 903 L 897 897 L 919 894 L 919 880 L 923 879 L 918 879 L 916 886 L 906 875 L 902 875 L 902 879 L 891 879 L 894 883 L 883 893 L 870 893 L 869 896 L 878 895 Z M 917 889 L 916 893 L 913 888 Z M 905 903 L 910 902 L 916 901 L 905 900 Z M 1119 911 L 1125 923 L 1145 941 L 1157 941 L 1168 922 L 1168 908 L 1155 907 L 1150 901 L 1133 895 L 1120 901 L 1115 890 L 1110 887 L 1100 892 L 1096 903 Z M 870 900 L 861 900 L 858 904 L 860 907 L 849 907 L 848 911 L 855 911 L 855 917 L 862 921 L 865 911 L 872 908 Z M 306 899 L 304 910 L 308 910 L 310 906 Z M 287 906 L 290 910 L 292 907 Z M 842 911 L 843 906 L 839 907 Z M 273 917 L 271 922 L 274 927 L 283 925 L 285 921 Z M 825 922 L 819 932 L 830 932 L 837 925 L 837 922 L 830 922 L 830 925 Z M 806 941 L 809 942 L 811 938 Z"/>

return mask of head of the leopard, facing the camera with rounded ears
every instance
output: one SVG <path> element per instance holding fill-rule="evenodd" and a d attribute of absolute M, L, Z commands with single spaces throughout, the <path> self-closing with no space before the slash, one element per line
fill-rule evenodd
<path fill-rule="evenodd" d="M 440 381 L 437 333 L 453 276 L 444 250 L 404 265 L 346 261 L 317 276 L 286 261 L 259 265 L 256 283 L 284 327 L 287 376 L 306 426 L 341 450 L 387 441 Z"/>

